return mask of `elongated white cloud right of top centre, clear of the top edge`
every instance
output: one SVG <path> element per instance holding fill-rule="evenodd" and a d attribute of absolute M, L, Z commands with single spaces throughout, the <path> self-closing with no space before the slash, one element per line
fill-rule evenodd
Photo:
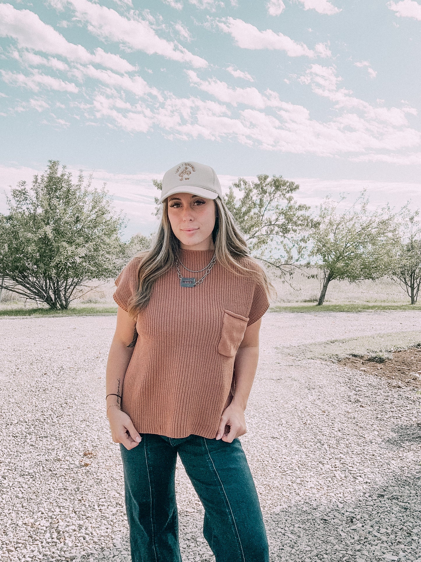
<path fill-rule="evenodd" d="M 216 25 L 225 33 L 230 33 L 242 49 L 278 49 L 285 51 L 290 57 L 315 56 L 314 51 L 304 43 L 296 43 L 286 35 L 274 33 L 271 29 L 260 31 L 254 25 L 233 17 L 217 20 Z"/>

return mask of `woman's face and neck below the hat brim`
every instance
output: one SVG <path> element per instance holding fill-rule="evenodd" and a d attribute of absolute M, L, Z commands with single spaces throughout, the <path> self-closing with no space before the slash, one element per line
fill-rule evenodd
<path fill-rule="evenodd" d="M 168 219 L 184 250 L 213 250 L 215 203 L 191 193 L 168 197 Z"/>

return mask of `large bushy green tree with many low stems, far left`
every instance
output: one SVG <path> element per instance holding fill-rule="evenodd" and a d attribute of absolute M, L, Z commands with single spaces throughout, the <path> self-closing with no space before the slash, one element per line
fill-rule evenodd
<path fill-rule="evenodd" d="M 9 214 L 0 215 L 0 277 L 4 288 L 51 309 L 67 309 L 76 289 L 120 271 L 127 244 L 123 219 L 115 214 L 105 189 L 91 188 L 90 175 L 76 183 L 59 162 L 22 181 L 7 198 Z"/>

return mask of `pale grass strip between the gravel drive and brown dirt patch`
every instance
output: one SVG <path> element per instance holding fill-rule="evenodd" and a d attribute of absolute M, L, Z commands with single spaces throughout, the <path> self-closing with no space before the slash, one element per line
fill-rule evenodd
<path fill-rule="evenodd" d="M 385 354 L 390 351 L 407 350 L 418 344 L 421 345 L 421 330 L 374 334 L 374 336 L 359 336 L 358 338 L 331 339 L 327 342 L 280 346 L 276 349 L 282 355 L 295 357 L 296 359 L 338 361 L 350 355 Z"/>

